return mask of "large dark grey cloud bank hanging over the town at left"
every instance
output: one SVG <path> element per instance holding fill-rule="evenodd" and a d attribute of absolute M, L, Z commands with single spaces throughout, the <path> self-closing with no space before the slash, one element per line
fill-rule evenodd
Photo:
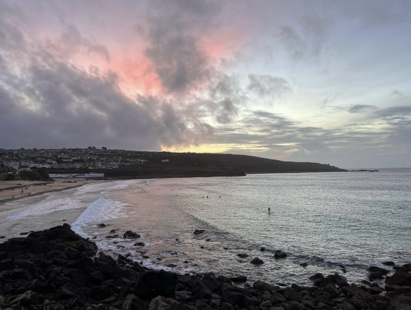
<path fill-rule="evenodd" d="M 173 105 L 156 99 L 158 109 L 150 109 L 153 99 L 139 103 L 127 98 L 112 73 L 92 75 L 53 58 L 34 62 L 25 73 L 21 83 L 26 103 L 15 96 L 21 90 L 10 85 L 0 88 L 3 147 L 92 143 L 158 150 L 162 145 L 184 144 L 192 135 Z"/>

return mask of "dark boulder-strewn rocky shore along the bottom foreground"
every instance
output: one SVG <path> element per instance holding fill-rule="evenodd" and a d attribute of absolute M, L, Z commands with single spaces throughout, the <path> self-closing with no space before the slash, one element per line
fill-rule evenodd
<path fill-rule="evenodd" d="M 113 259 L 69 224 L 0 244 L 0 309 L 15 310 L 304 310 L 411 309 L 411 263 L 371 266 L 370 281 L 314 274 L 313 285 L 279 287 L 245 276 L 179 275 Z M 385 279 L 385 285 L 372 283 Z M 243 283 L 238 286 L 238 283 Z"/>

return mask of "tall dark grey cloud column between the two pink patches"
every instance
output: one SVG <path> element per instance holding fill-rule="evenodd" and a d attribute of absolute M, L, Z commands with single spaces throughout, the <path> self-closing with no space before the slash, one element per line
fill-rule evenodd
<path fill-rule="evenodd" d="M 145 55 L 166 90 L 189 91 L 212 76 L 207 55 L 193 33 L 210 27 L 217 11 L 217 3 L 209 1 L 151 3 L 147 25 L 140 25 L 140 32 L 148 42 Z"/>

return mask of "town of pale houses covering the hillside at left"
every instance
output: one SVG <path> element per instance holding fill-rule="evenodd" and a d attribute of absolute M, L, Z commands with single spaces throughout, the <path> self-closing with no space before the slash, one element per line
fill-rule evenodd
<path fill-rule="evenodd" d="M 140 152 L 96 148 L 0 148 L 0 166 L 16 173 L 32 168 L 117 169 L 140 166 L 147 162 L 169 162 L 169 152 Z"/>

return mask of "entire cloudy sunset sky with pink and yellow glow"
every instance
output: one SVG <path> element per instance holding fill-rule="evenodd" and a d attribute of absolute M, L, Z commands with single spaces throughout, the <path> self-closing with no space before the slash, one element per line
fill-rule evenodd
<path fill-rule="evenodd" d="M 0 148 L 411 167 L 411 1 L 0 0 Z"/>

